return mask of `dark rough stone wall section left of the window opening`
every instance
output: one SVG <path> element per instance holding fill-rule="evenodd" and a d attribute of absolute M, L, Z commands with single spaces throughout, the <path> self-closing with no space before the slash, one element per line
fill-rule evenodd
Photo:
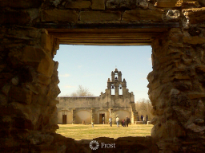
<path fill-rule="evenodd" d="M 35 139 L 52 140 L 53 136 L 41 133 L 55 133 L 58 128 L 55 39 L 46 30 L 20 26 L 2 27 L 0 37 L 0 141 L 4 152 L 18 152 L 20 146 L 41 143 Z"/>

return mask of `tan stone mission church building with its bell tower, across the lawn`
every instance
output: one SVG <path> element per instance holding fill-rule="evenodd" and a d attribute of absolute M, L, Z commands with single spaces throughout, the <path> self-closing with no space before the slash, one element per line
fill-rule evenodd
<path fill-rule="evenodd" d="M 137 119 L 137 112 L 134 105 L 134 94 L 129 92 L 126 80 L 122 80 L 122 73 L 115 69 L 111 72 L 111 79 L 108 78 L 105 93 L 101 92 L 99 97 L 58 97 L 58 123 L 79 124 L 105 123 L 111 116 L 113 123 L 118 116 L 120 120 L 127 116 L 131 123 Z"/>

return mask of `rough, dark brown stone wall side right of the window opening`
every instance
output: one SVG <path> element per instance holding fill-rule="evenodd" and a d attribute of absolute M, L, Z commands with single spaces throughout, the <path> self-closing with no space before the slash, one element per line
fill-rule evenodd
<path fill-rule="evenodd" d="M 151 135 L 160 152 L 202 152 L 205 116 L 205 29 L 171 29 L 152 44 Z"/>

